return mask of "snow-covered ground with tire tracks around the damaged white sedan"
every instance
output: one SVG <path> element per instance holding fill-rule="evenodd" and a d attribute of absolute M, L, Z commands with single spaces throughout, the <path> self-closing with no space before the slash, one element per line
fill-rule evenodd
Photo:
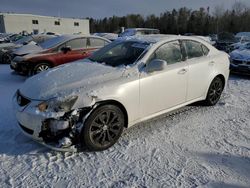
<path fill-rule="evenodd" d="M 104 152 L 61 153 L 26 138 L 11 100 L 25 77 L 0 65 L 1 187 L 250 187 L 250 77 L 215 107 L 161 116 Z"/>

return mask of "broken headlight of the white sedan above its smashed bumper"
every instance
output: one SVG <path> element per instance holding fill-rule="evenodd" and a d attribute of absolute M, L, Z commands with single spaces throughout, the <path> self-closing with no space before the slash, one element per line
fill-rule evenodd
<path fill-rule="evenodd" d="M 70 96 L 67 98 L 55 98 L 48 101 L 41 102 L 37 105 L 40 112 L 54 111 L 54 112 L 68 112 L 71 110 L 77 100 L 77 96 Z"/>

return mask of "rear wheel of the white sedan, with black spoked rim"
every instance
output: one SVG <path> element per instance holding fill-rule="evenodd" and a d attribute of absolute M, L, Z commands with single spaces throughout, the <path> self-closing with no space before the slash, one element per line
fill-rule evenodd
<path fill-rule="evenodd" d="M 206 106 L 214 106 L 220 100 L 222 91 L 224 89 L 224 83 L 220 77 L 215 77 L 214 80 L 211 82 L 207 97 L 204 101 L 204 105 Z"/>

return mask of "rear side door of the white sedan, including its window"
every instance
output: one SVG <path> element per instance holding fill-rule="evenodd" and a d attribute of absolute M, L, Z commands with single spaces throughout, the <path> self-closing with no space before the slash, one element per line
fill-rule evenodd
<path fill-rule="evenodd" d="M 181 44 L 185 48 L 189 66 L 187 101 L 191 101 L 204 96 L 215 62 L 208 55 L 209 49 L 202 43 L 182 40 Z"/>

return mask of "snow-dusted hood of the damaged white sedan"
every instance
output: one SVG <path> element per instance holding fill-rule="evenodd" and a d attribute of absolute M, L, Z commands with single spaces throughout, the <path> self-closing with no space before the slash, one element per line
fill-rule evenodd
<path fill-rule="evenodd" d="M 99 84 L 121 77 L 123 72 L 123 68 L 77 61 L 27 79 L 20 92 L 34 100 L 47 100 L 82 88 L 87 92 Z"/>

